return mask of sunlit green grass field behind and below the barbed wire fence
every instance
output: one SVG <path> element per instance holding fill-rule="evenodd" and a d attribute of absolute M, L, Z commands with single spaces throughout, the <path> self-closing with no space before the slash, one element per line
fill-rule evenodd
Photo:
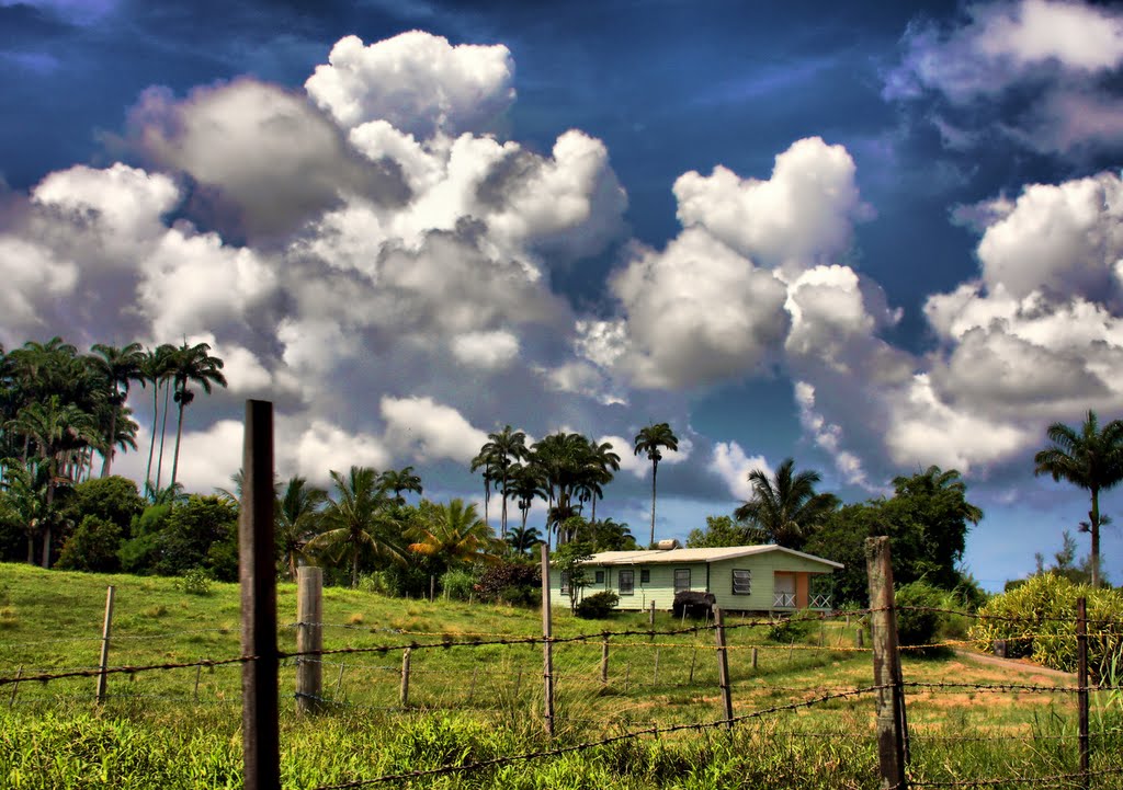
<path fill-rule="evenodd" d="M 190 595 L 172 579 L 45 572 L 0 564 L 0 678 L 94 668 L 106 586 L 115 585 L 111 665 L 236 658 L 238 590 L 214 584 Z M 295 586 L 277 591 L 279 643 L 295 646 Z M 325 647 L 387 647 L 327 655 L 326 711 L 295 715 L 292 660 L 281 670 L 282 772 L 286 788 L 317 788 L 446 764 L 568 747 L 659 726 L 722 718 L 712 632 L 613 636 L 600 679 L 602 630 L 648 628 L 647 615 L 590 622 L 556 610 L 557 734 L 542 724 L 540 645 L 453 645 L 411 654 L 409 707 L 399 700 L 409 644 L 540 635 L 535 610 L 400 600 L 325 590 Z M 681 626 L 657 615 L 658 631 Z M 690 623 L 687 623 L 690 625 Z M 857 621 L 838 618 L 792 642 L 766 626 L 727 625 L 734 716 L 800 705 L 873 685 L 870 654 L 853 649 Z M 822 646 L 820 646 L 820 642 Z M 752 668 L 756 647 L 757 667 Z M 1003 690 L 999 683 L 1070 687 L 1066 678 L 984 667 L 951 654 L 906 655 L 912 760 L 921 782 L 1053 777 L 1077 768 L 1071 693 Z M 0 686 L 0 788 L 238 788 L 237 664 L 116 674 L 109 699 L 94 679 Z M 1123 787 L 1117 697 L 1093 708 L 1093 787 Z M 391 781 L 398 787 L 875 788 L 871 695 L 769 713 L 737 725 L 684 728 L 556 756 Z M 1003 787 L 998 784 L 996 787 Z M 1008 787 L 1025 787 L 1011 782 Z M 1040 787 L 1078 787 L 1071 780 Z M 376 787 L 376 786 L 375 786 Z"/>

